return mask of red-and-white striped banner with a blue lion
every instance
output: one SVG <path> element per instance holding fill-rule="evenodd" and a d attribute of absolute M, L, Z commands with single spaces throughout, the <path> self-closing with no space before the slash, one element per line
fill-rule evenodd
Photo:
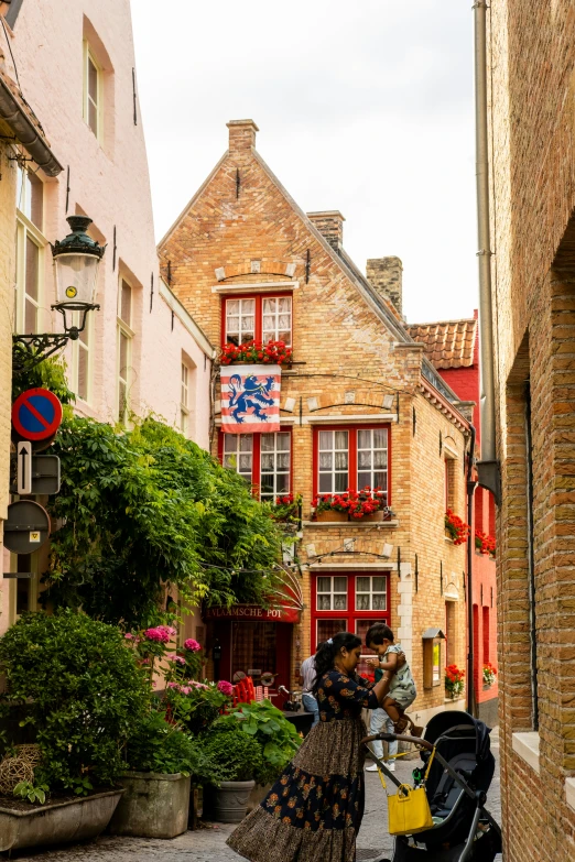
<path fill-rule="evenodd" d="M 220 371 L 221 430 L 280 430 L 280 365 L 228 365 Z"/>

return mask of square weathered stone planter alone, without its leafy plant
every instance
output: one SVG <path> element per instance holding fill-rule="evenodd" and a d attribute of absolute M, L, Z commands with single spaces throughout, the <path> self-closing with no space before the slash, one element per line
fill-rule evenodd
<path fill-rule="evenodd" d="M 187 830 L 189 777 L 127 772 L 120 783 L 126 794 L 110 822 L 112 836 L 175 838 Z"/>

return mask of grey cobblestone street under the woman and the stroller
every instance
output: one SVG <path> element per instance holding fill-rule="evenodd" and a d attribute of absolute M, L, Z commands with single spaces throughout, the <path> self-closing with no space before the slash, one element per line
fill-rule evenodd
<path fill-rule="evenodd" d="M 499 734 L 491 734 L 491 750 L 497 760 L 497 771 L 491 784 L 488 808 L 501 821 L 501 798 L 499 788 Z M 413 761 L 400 759 L 398 778 L 409 779 Z M 391 858 L 393 839 L 387 831 L 387 804 L 383 788 L 377 773 L 366 773 L 366 815 L 358 840 L 358 862 L 377 859 L 383 852 Z M 231 826 L 208 825 L 207 828 L 186 832 L 172 841 L 141 838 L 112 838 L 104 836 L 97 841 L 63 850 L 44 853 L 12 854 L 19 862 L 237 862 L 239 856 L 226 847 Z M 281 862 L 281 861 L 279 861 Z M 321 862 L 318 860 L 317 862 Z"/>

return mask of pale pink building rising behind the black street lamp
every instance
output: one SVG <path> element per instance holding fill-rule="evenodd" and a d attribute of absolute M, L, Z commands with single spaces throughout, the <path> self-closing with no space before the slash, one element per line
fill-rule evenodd
<path fill-rule="evenodd" d="M 13 0 L 0 13 L 6 72 L 64 165 L 52 178 L 19 164 L 14 331 L 62 329 L 48 242 L 69 232 L 67 216 L 88 215 L 107 251 L 100 310 L 65 351 L 77 412 L 122 424 L 153 412 L 207 448 L 214 349 L 160 277 L 130 2 Z M 15 565 L 4 556 L 4 571 Z M 0 630 L 37 594 L 34 580 L 3 586 Z"/>

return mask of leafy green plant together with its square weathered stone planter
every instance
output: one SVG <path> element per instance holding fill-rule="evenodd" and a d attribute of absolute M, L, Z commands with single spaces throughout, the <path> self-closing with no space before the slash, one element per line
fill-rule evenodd
<path fill-rule="evenodd" d="M 110 822 L 110 832 L 140 838 L 175 838 L 187 829 L 192 781 L 211 770 L 189 734 L 152 709 L 135 728 L 120 778 L 126 794 Z"/>

